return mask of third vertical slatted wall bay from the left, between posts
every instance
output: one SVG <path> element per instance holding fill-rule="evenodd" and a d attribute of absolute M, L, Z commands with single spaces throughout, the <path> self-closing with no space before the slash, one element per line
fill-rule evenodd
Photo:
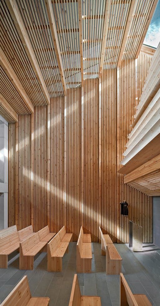
<path fill-rule="evenodd" d="M 34 126 L 32 137 L 34 138 L 34 162 L 32 161 L 32 174 L 34 197 L 32 195 L 32 220 L 34 230 L 38 231 L 47 225 L 47 106 L 37 106 L 34 112 Z M 33 125 L 33 124 L 32 124 Z"/>

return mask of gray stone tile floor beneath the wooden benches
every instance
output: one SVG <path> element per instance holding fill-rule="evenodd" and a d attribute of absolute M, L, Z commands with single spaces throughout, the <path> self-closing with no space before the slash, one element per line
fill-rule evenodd
<path fill-rule="evenodd" d="M 156 251 L 133 253 L 128 244 L 115 246 L 122 257 L 122 272 L 133 293 L 146 294 L 153 306 L 160 306 L 160 254 Z M 78 273 L 82 295 L 98 295 L 102 306 L 119 306 L 120 277 L 106 275 L 101 245 L 92 243 L 92 273 Z M 0 300 L 11 292 L 24 275 L 28 276 L 32 296 L 48 296 L 50 306 L 67 306 L 76 273 L 76 242 L 69 245 L 62 272 L 47 272 L 47 254 L 35 257 L 34 270 L 19 270 L 19 254 L 12 253 L 7 269 L 0 269 Z"/>

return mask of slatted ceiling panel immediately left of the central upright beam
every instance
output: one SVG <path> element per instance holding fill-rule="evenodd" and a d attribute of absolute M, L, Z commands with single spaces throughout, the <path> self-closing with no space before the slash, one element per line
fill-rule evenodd
<path fill-rule="evenodd" d="M 77 87 L 74 82 L 81 81 L 81 73 L 73 73 L 72 69 L 80 68 L 78 3 L 73 1 L 64 2 L 62 0 L 54 1 L 53 10 L 67 88 Z M 69 73 L 66 69 L 69 69 Z"/>

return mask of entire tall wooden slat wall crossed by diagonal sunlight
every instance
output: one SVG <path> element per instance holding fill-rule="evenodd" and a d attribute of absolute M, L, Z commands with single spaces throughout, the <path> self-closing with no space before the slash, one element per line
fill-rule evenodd
<path fill-rule="evenodd" d="M 137 104 L 137 73 L 136 60 L 126 60 L 117 71 L 103 71 L 101 81 L 87 79 L 84 88 L 68 89 L 67 97 L 9 125 L 10 225 L 37 231 L 48 224 L 57 232 L 65 224 L 77 240 L 82 224 L 92 241 L 101 225 L 113 241 L 128 242 L 131 219 L 152 242 L 152 197 L 116 174 Z M 120 216 L 123 200 L 129 217 Z"/>

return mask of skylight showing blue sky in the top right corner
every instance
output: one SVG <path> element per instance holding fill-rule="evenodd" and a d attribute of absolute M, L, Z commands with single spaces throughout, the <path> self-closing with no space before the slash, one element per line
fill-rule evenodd
<path fill-rule="evenodd" d="M 157 48 L 160 41 L 160 0 L 153 14 L 151 23 L 148 27 L 144 44 Z"/>

